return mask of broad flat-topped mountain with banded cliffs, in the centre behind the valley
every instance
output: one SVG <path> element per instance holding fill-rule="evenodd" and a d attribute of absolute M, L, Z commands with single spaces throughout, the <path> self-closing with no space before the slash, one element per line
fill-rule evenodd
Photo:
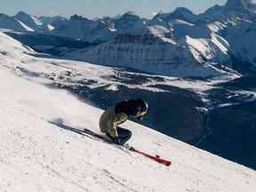
<path fill-rule="evenodd" d="M 136 68 L 164 76 L 218 76 L 227 72 L 196 60 L 188 49 L 175 44 L 172 30 L 162 26 L 116 36 L 81 57 L 92 63 Z"/>

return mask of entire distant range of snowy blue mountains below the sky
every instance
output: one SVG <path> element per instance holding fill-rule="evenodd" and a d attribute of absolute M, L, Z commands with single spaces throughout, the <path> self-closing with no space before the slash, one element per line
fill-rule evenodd
<path fill-rule="evenodd" d="M 134 12 L 88 20 L 73 15 L 0 14 L 0 28 L 36 51 L 165 76 L 256 75 L 256 4 L 228 0 L 202 14 L 179 7 L 152 20 Z M 18 33 L 19 32 L 19 33 Z M 20 33 L 22 32 L 22 33 Z"/>

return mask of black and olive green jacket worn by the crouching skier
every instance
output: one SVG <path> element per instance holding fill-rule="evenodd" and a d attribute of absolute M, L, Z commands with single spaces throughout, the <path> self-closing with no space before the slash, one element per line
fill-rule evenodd
<path fill-rule="evenodd" d="M 129 116 L 136 116 L 137 106 L 135 100 L 124 100 L 105 110 L 100 116 L 100 132 L 109 132 L 113 138 L 118 137 L 116 128 L 123 124 Z"/>

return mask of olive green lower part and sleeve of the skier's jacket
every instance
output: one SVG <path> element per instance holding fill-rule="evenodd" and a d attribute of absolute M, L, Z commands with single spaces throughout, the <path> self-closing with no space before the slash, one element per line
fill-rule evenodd
<path fill-rule="evenodd" d="M 100 116 L 100 132 L 107 133 L 111 135 L 111 137 L 116 138 L 118 134 L 116 132 L 116 128 L 119 124 L 123 124 L 128 116 L 125 113 L 115 113 L 115 107 L 111 106 L 105 110 L 105 112 Z"/>

